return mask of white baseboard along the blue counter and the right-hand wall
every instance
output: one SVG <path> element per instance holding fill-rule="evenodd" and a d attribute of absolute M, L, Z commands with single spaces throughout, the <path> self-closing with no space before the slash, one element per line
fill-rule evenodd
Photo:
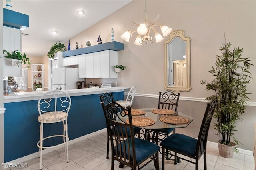
<path fill-rule="evenodd" d="M 93 133 L 90 133 L 90 134 L 87 134 L 87 135 L 84 135 L 84 136 L 81 136 L 79 138 L 76 138 L 76 139 L 73 139 L 73 140 L 70 140 L 68 141 L 68 144 L 74 144 L 80 140 L 84 140 L 86 138 L 89 138 L 91 136 L 94 136 L 96 134 L 100 134 L 102 132 L 106 132 L 107 128 L 104 128 L 104 129 L 101 129 L 101 130 L 98 130 L 96 132 L 93 132 Z M 208 146 L 212 146 L 212 147 L 215 147 L 215 148 L 218 148 L 218 143 L 215 143 L 215 142 L 210 142 L 210 141 L 207 141 L 207 145 Z M 44 154 L 46 153 L 49 153 L 49 152 L 52 152 L 53 150 L 57 150 L 59 148 L 61 148 L 63 146 L 59 146 L 59 147 L 56 147 L 56 148 L 52 148 L 52 149 L 44 149 Z M 241 154 L 246 154 L 246 155 L 249 155 L 249 156 L 253 156 L 252 155 L 252 151 L 250 150 L 244 150 L 244 149 L 240 149 L 238 148 L 239 152 Z M 27 155 L 27 156 L 23 156 L 22 158 L 18 158 L 16 160 L 12 160 L 10 162 L 6 162 L 7 164 L 19 164 L 19 163 L 22 163 L 22 162 L 26 162 L 27 160 L 30 160 L 30 159 L 33 159 L 33 158 L 36 158 L 38 156 L 38 152 L 35 152 L 33 154 L 30 154 L 30 155 Z"/>

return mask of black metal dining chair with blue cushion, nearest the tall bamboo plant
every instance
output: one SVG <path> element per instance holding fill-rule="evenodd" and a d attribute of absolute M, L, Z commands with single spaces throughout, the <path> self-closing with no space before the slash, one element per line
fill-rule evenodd
<path fill-rule="evenodd" d="M 186 160 L 193 164 L 196 164 L 196 170 L 198 170 L 198 161 L 202 155 L 204 155 L 204 170 L 207 170 L 206 167 L 206 142 L 208 131 L 210 128 L 210 123 L 212 120 L 212 116 L 214 114 L 216 103 L 212 101 L 211 103 L 207 103 L 207 107 L 204 113 L 204 118 L 202 120 L 202 124 L 200 127 L 198 139 L 192 138 L 190 136 L 186 136 L 184 134 L 175 133 L 168 136 L 166 139 L 162 140 L 162 170 L 164 170 L 164 153 L 165 150 L 170 150 L 174 152 L 174 164 L 177 164 L 177 158 L 182 160 Z M 188 160 L 186 158 L 178 157 L 178 154 L 182 154 L 184 156 L 188 156 L 192 158 Z M 193 159 L 195 162 L 193 162 Z"/>

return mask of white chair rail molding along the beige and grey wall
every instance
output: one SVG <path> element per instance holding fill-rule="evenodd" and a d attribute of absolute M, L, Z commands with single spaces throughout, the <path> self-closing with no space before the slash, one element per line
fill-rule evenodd
<path fill-rule="evenodd" d="M 124 95 L 127 95 L 128 92 L 124 92 Z M 150 97 L 150 98 L 158 98 L 158 94 L 141 94 L 141 93 L 135 93 L 135 96 L 140 97 Z M 188 101 L 194 101 L 194 102 L 209 102 L 208 100 L 205 100 L 205 98 L 196 98 L 196 97 L 182 97 L 180 96 L 179 100 L 188 100 Z M 256 102 L 246 101 L 246 106 L 256 106 Z"/>

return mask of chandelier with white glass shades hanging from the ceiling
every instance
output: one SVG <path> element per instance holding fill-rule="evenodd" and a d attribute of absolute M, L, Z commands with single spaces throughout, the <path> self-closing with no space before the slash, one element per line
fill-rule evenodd
<path fill-rule="evenodd" d="M 162 40 L 164 40 L 164 38 L 162 37 L 161 34 L 159 34 L 158 32 L 156 32 L 156 28 L 154 28 L 155 26 L 160 27 L 163 36 L 168 36 L 171 32 L 172 32 L 172 28 L 169 28 L 168 26 L 165 25 L 161 25 L 158 22 L 155 22 L 158 17 L 156 17 L 156 19 L 153 22 L 150 22 L 148 20 L 147 17 L 147 10 L 146 10 L 146 0 L 144 2 L 145 4 L 145 10 L 144 10 L 144 20 L 142 22 L 142 24 L 136 24 L 134 22 L 135 25 L 132 26 L 132 28 L 128 31 L 126 31 L 124 34 L 121 35 L 121 38 L 127 42 L 129 42 L 130 37 L 132 36 L 132 34 L 134 32 L 137 32 L 138 36 L 136 38 L 136 40 L 134 41 L 134 44 L 137 46 L 141 46 L 143 42 L 146 42 L 146 44 L 148 44 L 149 42 L 161 42 Z M 137 27 L 137 30 L 132 31 L 133 28 Z M 152 36 L 150 36 L 150 31 L 154 30 L 155 32 L 155 38 L 153 39 Z"/>

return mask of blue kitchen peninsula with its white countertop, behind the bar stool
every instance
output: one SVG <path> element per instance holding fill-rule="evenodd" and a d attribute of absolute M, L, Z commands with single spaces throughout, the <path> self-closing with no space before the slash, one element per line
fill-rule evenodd
<path fill-rule="evenodd" d="M 87 88 L 63 90 L 71 97 L 68 114 L 68 136 L 70 140 L 106 128 L 106 121 L 100 106 L 99 95 L 113 93 L 115 100 L 124 100 L 128 87 Z M 4 162 L 10 162 L 38 152 L 39 141 L 37 103 L 47 91 L 21 92 L 4 96 Z M 62 122 L 44 125 L 44 136 L 62 134 Z M 46 141 L 44 144 L 60 143 L 62 139 Z"/>

